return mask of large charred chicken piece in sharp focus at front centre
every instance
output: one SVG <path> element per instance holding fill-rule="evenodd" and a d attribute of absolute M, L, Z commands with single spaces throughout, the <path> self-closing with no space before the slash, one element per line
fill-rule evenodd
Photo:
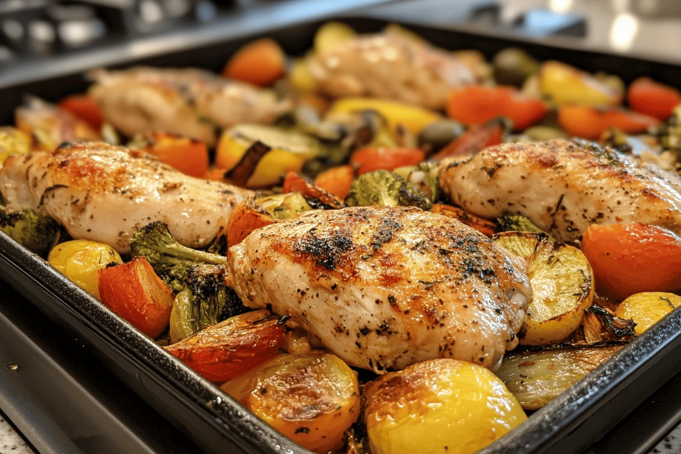
<path fill-rule="evenodd" d="M 244 304 L 290 315 L 378 373 L 437 357 L 498 366 L 532 294 L 524 264 L 492 240 L 417 208 L 308 212 L 227 257 Z"/>

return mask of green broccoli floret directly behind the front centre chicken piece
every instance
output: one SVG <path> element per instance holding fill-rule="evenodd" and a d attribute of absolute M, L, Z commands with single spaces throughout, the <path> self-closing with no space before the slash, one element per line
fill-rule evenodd
<path fill-rule="evenodd" d="M 353 180 L 345 198 L 347 206 L 417 206 L 430 210 L 428 196 L 399 175 L 375 170 Z"/>

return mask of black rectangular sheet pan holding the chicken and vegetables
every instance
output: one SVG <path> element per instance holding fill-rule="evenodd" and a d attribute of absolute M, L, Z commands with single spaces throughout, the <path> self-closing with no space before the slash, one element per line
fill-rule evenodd
<path fill-rule="evenodd" d="M 349 18 L 346 22 L 361 32 L 378 31 L 385 25 L 372 18 Z M 127 64 L 197 66 L 217 71 L 236 48 L 264 35 L 279 41 L 287 53 L 302 54 L 311 46 L 319 25 L 320 22 L 311 22 L 234 40 L 225 31 L 225 42 L 200 49 L 191 48 L 188 36 L 184 50 Z M 463 31 L 411 28 L 444 48 L 477 48 L 491 56 L 501 48 L 520 44 L 539 59 L 559 59 L 589 71 L 607 71 L 625 81 L 641 75 L 674 85 L 681 80 L 681 69 L 664 63 L 527 45 Z M 12 121 L 12 110 L 23 93 L 57 100 L 83 91 L 86 85 L 81 74 L 63 74 L 2 89 L 0 122 Z M 206 452 L 308 453 L 3 233 L 0 276 L 69 334 L 78 337 L 116 376 Z M 481 453 L 580 453 L 680 369 L 681 312 L 676 310 Z"/>

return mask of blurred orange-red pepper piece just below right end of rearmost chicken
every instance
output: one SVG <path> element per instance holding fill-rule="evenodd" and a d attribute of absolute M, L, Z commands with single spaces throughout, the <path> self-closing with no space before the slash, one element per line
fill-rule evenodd
<path fill-rule="evenodd" d="M 464 125 L 482 125 L 505 116 L 516 130 L 526 129 L 548 113 L 546 104 L 526 97 L 511 86 L 469 85 L 452 91 L 447 101 L 447 116 Z"/>

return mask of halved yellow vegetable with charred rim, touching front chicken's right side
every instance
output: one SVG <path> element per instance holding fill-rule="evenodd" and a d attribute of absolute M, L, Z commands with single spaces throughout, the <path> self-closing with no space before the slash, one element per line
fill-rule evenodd
<path fill-rule="evenodd" d="M 494 238 L 527 261 L 533 296 L 518 334 L 520 343 L 546 345 L 567 338 L 594 295 L 591 267 L 582 251 L 541 233 L 503 232 Z"/>

